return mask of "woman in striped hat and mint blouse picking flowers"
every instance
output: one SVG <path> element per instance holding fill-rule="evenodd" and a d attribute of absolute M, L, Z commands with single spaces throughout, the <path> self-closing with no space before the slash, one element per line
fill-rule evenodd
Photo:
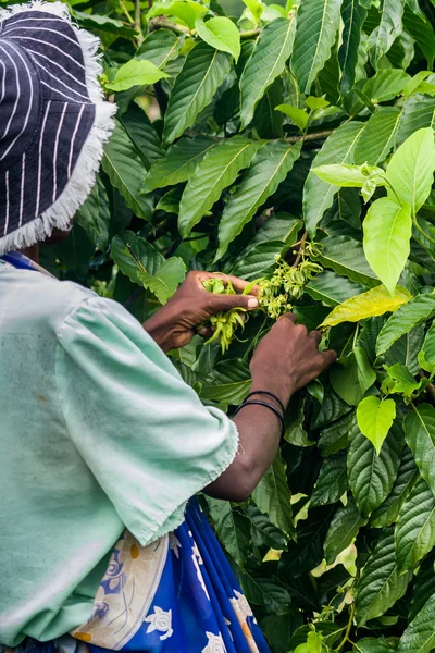
<path fill-rule="evenodd" d="M 97 45 L 60 3 L 0 12 L 0 643 L 266 652 L 191 497 L 247 498 L 289 397 L 335 354 L 282 318 L 229 420 L 201 405 L 164 352 L 220 310 L 254 309 L 254 296 L 207 293 L 214 275 L 191 272 L 141 325 L 39 268 L 37 243 L 71 225 L 112 130 Z"/>

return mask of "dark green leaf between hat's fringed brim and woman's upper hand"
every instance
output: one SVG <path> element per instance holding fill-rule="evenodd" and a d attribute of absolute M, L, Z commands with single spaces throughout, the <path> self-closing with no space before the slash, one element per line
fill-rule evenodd
<path fill-rule="evenodd" d="M 133 281 L 133 283 L 141 285 L 139 274 L 140 268 L 132 256 L 127 245 L 133 249 L 136 258 L 140 261 L 141 267 L 147 270 L 149 274 L 157 274 L 164 262 L 164 257 L 145 238 L 136 236 L 134 232 L 122 231 L 113 238 L 111 256 L 116 266 L 123 274 Z"/>

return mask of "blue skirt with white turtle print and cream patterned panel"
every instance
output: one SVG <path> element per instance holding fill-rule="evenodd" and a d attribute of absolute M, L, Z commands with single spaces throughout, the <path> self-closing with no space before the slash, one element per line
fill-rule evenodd
<path fill-rule="evenodd" d="M 88 623 L 15 653 L 270 653 L 234 572 L 194 498 L 173 533 L 116 543 Z"/>

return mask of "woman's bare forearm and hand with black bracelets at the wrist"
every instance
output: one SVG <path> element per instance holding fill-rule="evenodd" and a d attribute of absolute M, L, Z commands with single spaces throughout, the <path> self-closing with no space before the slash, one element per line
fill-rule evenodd
<path fill-rule="evenodd" d="M 252 391 L 273 392 L 286 406 L 291 395 L 319 377 L 336 358 L 319 352 L 321 335 L 308 333 L 291 313 L 283 316 L 263 337 L 251 361 Z M 257 398 L 257 397 L 256 397 Z M 260 399 L 278 405 L 269 396 Z M 263 406 L 246 406 L 235 418 L 239 452 L 206 493 L 215 498 L 246 501 L 272 464 L 279 444 L 281 423 Z"/>

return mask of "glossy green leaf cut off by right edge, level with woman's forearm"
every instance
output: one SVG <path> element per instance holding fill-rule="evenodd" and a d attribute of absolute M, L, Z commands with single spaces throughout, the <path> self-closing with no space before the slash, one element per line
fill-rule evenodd
<path fill-rule="evenodd" d="M 403 429 L 420 473 L 435 494 L 435 408 L 419 404 L 406 416 Z"/>

